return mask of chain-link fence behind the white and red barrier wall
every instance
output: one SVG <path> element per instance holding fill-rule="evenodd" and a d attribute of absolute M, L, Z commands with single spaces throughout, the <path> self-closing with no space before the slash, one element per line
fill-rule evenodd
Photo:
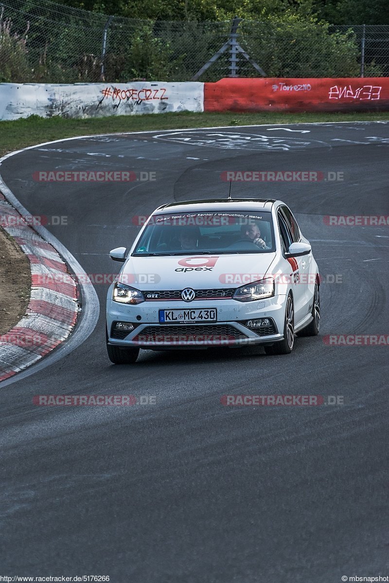
<path fill-rule="evenodd" d="M 229 41 L 231 26 L 106 16 L 49 0 L 0 0 L 0 82 L 187 81 Z M 269 77 L 389 76 L 389 25 L 243 20 L 236 38 Z M 199 80 L 230 74 L 226 50 Z M 234 74 L 260 75 L 239 54 Z"/>

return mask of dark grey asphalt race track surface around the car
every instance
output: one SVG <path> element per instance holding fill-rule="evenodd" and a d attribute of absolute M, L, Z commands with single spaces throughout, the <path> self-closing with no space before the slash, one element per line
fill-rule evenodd
<path fill-rule="evenodd" d="M 118 271 L 108 252 L 131 243 L 134 216 L 227 196 L 223 171 L 344 173 L 338 181 L 232 185 L 236 197 L 281 198 L 313 245 L 321 334 L 297 339 L 292 354 L 142 351 L 135 366 L 112 365 L 108 285 L 96 284 L 100 318 L 89 338 L 0 385 L 3 574 L 108 575 L 110 583 L 338 583 L 389 574 L 388 346 L 323 340 L 389 333 L 389 227 L 323 218 L 389 215 L 388 130 L 376 122 L 94 136 L 2 163 L 3 180 L 31 214 L 68 217 L 68 226 L 47 228 L 90 274 Z M 97 169 L 155 172 L 156 180 L 32 178 Z M 50 394 L 156 403 L 32 404 Z M 226 394 L 341 395 L 344 405 L 227 407 Z"/>

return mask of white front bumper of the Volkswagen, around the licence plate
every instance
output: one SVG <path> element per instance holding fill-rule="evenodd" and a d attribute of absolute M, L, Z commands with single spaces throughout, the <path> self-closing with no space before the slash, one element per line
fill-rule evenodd
<path fill-rule="evenodd" d="M 265 300 L 239 302 L 236 300 L 145 301 L 129 305 L 107 298 L 108 343 L 123 348 L 139 347 L 146 350 L 194 349 L 216 346 L 243 347 L 272 343 L 283 338 L 286 296 Z M 188 308 L 216 308 L 217 322 L 187 322 L 185 324 L 160 324 L 159 310 Z M 271 326 L 248 328 L 249 319 L 267 318 Z M 135 325 L 129 333 L 114 332 L 116 322 Z"/>

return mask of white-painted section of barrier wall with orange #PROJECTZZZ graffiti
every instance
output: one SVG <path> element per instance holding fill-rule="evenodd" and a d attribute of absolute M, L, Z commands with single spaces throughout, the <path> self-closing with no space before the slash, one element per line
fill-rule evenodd
<path fill-rule="evenodd" d="M 0 83 L 0 120 L 203 111 L 204 83 Z"/>

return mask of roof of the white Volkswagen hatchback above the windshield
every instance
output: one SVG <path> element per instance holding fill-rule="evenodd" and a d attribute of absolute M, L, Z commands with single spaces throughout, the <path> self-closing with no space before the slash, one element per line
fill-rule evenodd
<path fill-rule="evenodd" d="M 272 198 L 250 199 L 250 198 L 215 198 L 202 201 L 185 201 L 172 202 L 168 205 L 162 205 L 157 208 L 156 213 L 171 213 L 171 212 L 205 212 L 209 210 L 271 210 L 274 203 L 281 203 Z"/>

